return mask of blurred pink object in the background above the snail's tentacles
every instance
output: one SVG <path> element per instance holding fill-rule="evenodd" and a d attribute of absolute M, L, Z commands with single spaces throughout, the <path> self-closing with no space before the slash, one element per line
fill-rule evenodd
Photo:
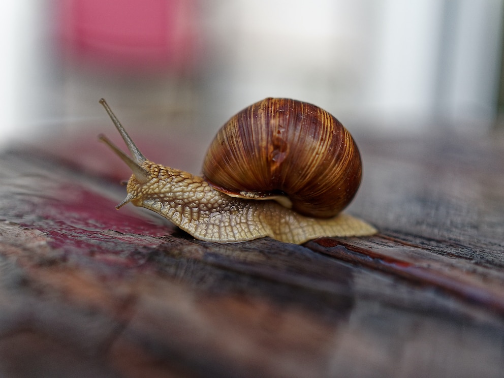
<path fill-rule="evenodd" d="M 61 0 L 62 47 L 78 62 L 102 68 L 186 72 L 199 49 L 196 5 L 194 0 Z"/>

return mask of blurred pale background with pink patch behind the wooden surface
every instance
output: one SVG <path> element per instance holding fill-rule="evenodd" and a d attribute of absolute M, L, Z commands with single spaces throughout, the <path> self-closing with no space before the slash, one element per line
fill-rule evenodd
<path fill-rule="evenodd" d="M 0 14 L 2 146 L 113 135 L 101 97 L 133 134 L 191 136 L 197 155 L 270 96 L 357 135 L 499 123 L 502 0 L 31 0 Z"/>

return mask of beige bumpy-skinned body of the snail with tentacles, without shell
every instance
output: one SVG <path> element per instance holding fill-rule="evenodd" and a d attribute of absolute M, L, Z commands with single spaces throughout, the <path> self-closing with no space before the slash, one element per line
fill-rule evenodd
<path fill-rule="evenodd" d="M 217 191 L 203 177 L 152 163 L 145 159 L 122 128 L 108 105 L 100 101 L 128 145 L 133 158 L 108 144 L 132 169 L 127 198 L 117 208 L 132 202 L 169 219 L 196 239 L 238 242 L 265 236 L 303 243 L 321 236 L 363 236 L 376 230 L 346 214 L 330 218 L 301 215 L 272 200 L 231 197 Z"/>

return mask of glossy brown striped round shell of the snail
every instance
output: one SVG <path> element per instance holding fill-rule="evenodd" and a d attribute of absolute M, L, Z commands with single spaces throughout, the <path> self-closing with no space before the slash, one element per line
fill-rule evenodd
<path fill-rule="evenodd" d="M 330 217 L 354 198 L 359 150 L 325 110 L 290 99 L 265 99 L 233 116 L 203 163 L 217 190 L 245 198 L 286 195 L 304 215 Z"/>

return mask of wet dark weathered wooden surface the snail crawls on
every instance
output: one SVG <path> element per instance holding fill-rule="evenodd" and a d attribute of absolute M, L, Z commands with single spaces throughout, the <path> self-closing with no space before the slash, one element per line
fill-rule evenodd
<path fill-rule="evenodd" d="M 7 151 L 0 376 L 502 378 L 503 142 L 358 138 L 349 212 L 380 233 L 302 246 L 115 210 L 94 136 Z"/>

